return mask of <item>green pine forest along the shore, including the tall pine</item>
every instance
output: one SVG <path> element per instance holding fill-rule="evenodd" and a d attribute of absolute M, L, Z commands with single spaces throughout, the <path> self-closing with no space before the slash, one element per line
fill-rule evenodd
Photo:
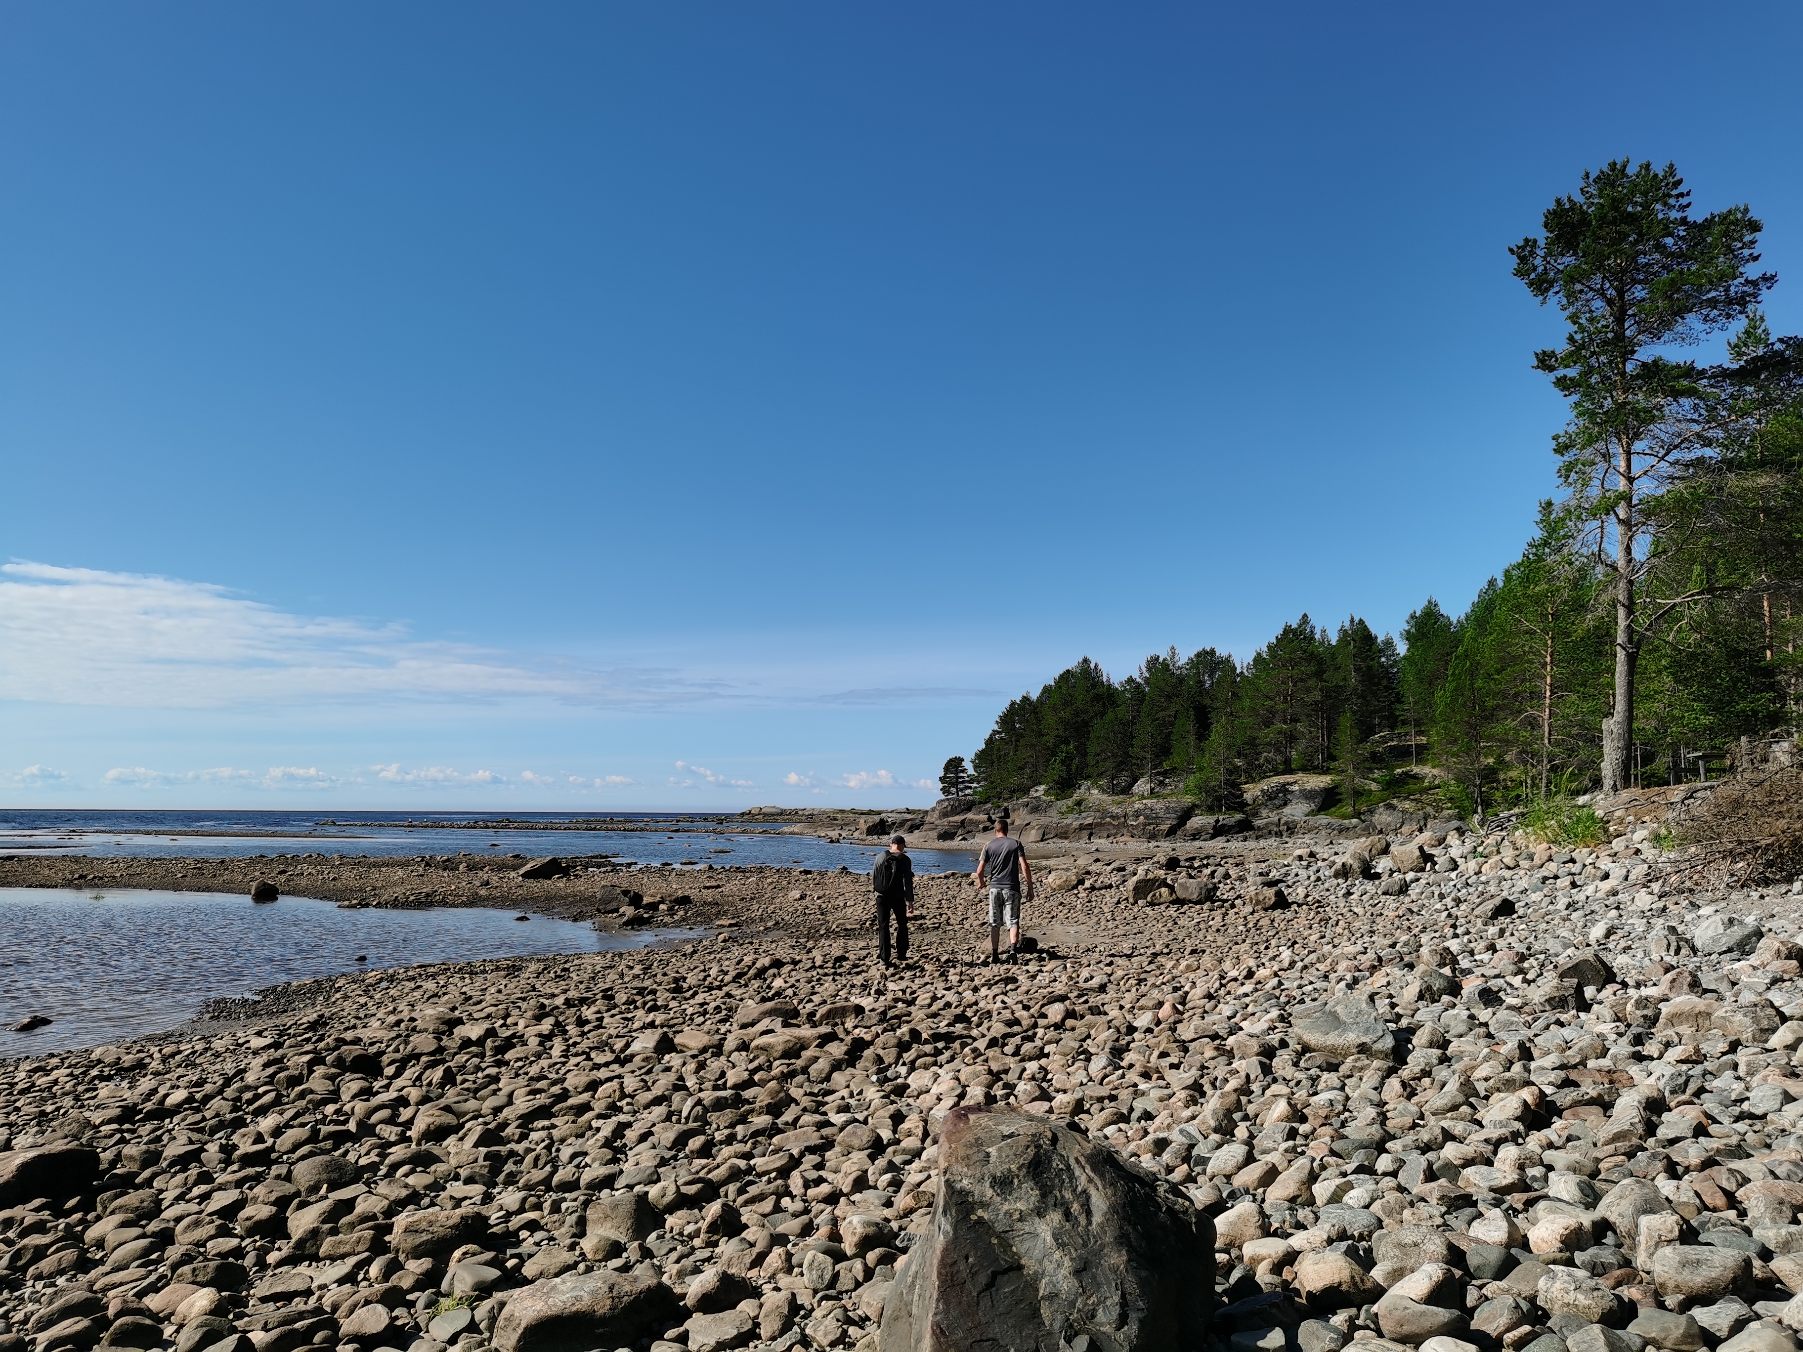
<path fill-rule="evenodd" d="M 1772 337 L 1747 207 L 1693 216 L 1671 166 L 1615 160 L 1509 252 L 1565 315 L 1538 370 L 1569 400 L 1565 494 L 1459 617 L 1432 597 L 1397 644 L 1307 615 L 1239 662 L 1084 658 L 1011 701 L 972 757 L 988 800 L 1174 777 L 1212 808 L 1277 773 L 1341 800 L 1437 766 L 1457 806 L 1677 782 L 1798 723 L 1803 687 L 1803 339 Z M 1729 333 L 1725 361 L 1684 357 Z M 1365 788 L 1361 788 L 1365 786 Z"/>

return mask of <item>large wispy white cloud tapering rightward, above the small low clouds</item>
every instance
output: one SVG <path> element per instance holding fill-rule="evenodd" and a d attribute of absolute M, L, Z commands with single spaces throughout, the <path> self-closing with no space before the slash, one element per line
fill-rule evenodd
<path fill-rule="evenodd" d="M 409 638 L 404 626 L 288 615 L 209 582 L 0 564 L 0 699 L 215 708 L 539 698 L 590 705 L 712 699 L 665 669 Z"/>

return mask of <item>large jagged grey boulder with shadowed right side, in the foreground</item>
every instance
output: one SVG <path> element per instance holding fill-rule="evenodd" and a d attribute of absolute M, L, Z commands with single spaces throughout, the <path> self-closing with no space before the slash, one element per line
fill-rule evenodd
<path fill-rule="evenodd" d="M 1203 1345 L 1215 1228 L 1177 1188 L 1026 1112 L 948 1112 L 939 1159 L 932 1224 L 883 1302 L 883 1352 Z"/>

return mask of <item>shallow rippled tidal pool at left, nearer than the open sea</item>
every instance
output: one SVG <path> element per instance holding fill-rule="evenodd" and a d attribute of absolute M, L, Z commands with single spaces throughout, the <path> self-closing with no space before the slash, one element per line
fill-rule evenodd
<path fill-rule="evenodd" d="M 645 948 L 689 932 L 602 934 L 481 907 L 339 910 L 285 896 L 0 887 L 0 1058 L 160 1033 L 218 995 L 343 972 Z M 359 957 L 362 961 L 359 961 Z M 11 1031 L 27 1017 L 50 1024 Z"/>

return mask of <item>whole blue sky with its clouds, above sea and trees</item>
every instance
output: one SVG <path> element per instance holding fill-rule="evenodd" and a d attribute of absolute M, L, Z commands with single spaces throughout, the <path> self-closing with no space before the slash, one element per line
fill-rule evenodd
<path fill-rule="evenodd" d="M 1462 607 L 1563 418 L 1506 247 L 1671 159 L 1792 278 L 1799 45 L 0 7 L 0 802 L 923 802 L 1085 653 Z"/>

